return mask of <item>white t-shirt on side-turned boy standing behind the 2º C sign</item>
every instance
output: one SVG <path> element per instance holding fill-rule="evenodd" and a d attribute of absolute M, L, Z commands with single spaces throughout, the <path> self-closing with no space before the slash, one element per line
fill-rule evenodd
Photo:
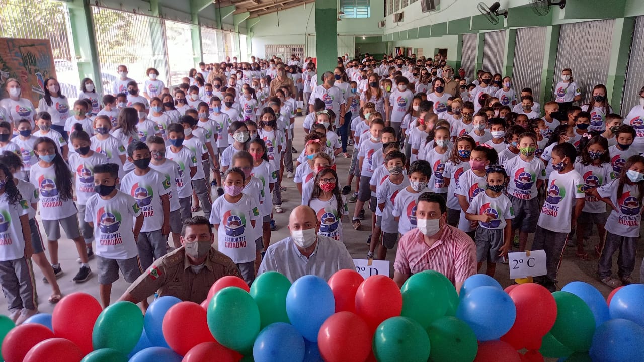
<path fill-rule="evenodd" d="M 577 171 L 553 171 L 537 225 L 555 233 L 570 233 L 576 198 L 583 198 L 583 179 Z"/>

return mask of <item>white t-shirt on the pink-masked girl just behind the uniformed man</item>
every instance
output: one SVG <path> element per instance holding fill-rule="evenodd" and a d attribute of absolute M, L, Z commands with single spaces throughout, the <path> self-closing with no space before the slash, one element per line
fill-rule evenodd
<path fill-rule="evenodd" d="M 225 196 L 214 200 L 210 222 L 219 225 L 219 251 L 236 264 L 255 260 L 256 235 L 252 220 L 256 223 L 261 222 L 260 211 L 248 195 L 242 194 L 242 198 L 235 203 L 228 202 Z"/>

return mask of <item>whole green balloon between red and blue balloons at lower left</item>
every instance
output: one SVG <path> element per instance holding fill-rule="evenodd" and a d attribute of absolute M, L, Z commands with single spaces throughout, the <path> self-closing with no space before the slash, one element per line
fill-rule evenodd
<path fill-rule="evenodd" d="M 91 332 L 94 350 L 110 348 L 128 354 L 143 332 L 143 314 L 131 301 L 117 301 L 99 314 Z"/>

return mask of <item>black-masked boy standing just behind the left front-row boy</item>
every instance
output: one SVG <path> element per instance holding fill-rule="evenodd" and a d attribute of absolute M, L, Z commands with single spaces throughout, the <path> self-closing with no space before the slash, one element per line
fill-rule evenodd
<path fill-rule="evenodd" d="M 144 216 L 137 249 L 141 269 L 146 270 L 155 259 L 167 254 L 170 182 L 150 168 L 152 156 L 143 142 L 134 141 L 128 145 L 128 160 L 135 168 L 121 180 L 120 190 L 137 200 Z"/>

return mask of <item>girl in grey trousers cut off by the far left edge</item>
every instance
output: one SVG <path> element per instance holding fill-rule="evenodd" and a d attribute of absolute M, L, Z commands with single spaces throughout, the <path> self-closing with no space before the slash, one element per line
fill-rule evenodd
<path fill-rule="evenodd" d="M 0 213 L 4 216 L 0 233 L 0 284 L 10 318 L 22 324 L 38 312 L 30 258 L 33 254 L 29 228 L 29 205 L 15 186 L 14 176 L 0 164 Z"/>

